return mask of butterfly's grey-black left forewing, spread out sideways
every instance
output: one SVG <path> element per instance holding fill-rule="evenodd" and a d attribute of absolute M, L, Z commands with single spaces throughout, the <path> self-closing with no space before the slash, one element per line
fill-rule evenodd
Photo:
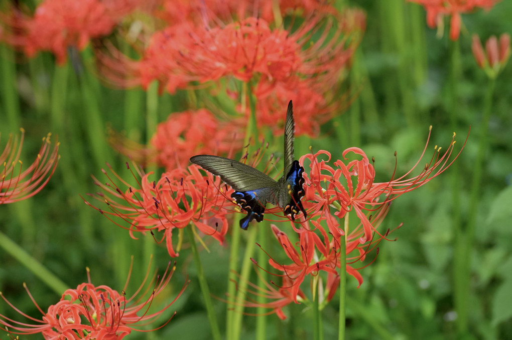
<path fill-rule="evenodd" d="M 197 155 L 190 158 L 190 161 L 210 173 L 220 176 L 224 182 L 237 191 L 256 190 L 264 187 L 274 188 L 278 184 L 258 169 L 229 158 Z"/>

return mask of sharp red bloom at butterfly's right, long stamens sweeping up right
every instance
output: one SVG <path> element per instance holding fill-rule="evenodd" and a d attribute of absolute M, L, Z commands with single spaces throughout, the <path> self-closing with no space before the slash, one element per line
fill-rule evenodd
<path fill-rule="evenodd" d="M 345 150 L 343 157 L 346 159 L 349 153 L 353 153 L 359 156 L 360 159 L 350 161 L 347 164 L 345 164 L 343 160 L 337 160 L 333 163 L 334 166 L 318 159 L 320 155 L 327 155 L 329 161 L 331 156 L 327 151 L 303 156 L 301 162 L 304 164 L 304 161 L 309 159 L 312 169 L 310 173 L 312 177 L 306 179 L 306 198 L 313 198 L 313 201 L 317 197 L 319 198 L 317 203 L 306 201 L 306 209 L 308 209 L 311 204 L 315 207 L 314 211 L 316 211 L 316 213 L 326 215 L 330 213 L 330 207 L 336 206 L 337 211 L 334 215 L 337 218 L 343 218 L 347 212 L 353 210 L 361 221 L 364 229 L 364 234 L 361 235 L 361 242 L 364 243 L 371 239 L 372 234 L 376 232 L 376 228 L 372 225 L 370 216 L 373 216 L 374 221 L 376 217 L 382 218 L 381 214 L 387 212 L 387 206 L 389 206 L 392 200 L 403 193 L 412 191 L 428 183 L 430 180 L 443 173 L 462 152 L 465 142 L 459 153 L 449 162 L 455 145 L 454 133 L 452 141 L 446 151 L 441 154 L 441 148 L 438 148 L 436 145 L 430 162 L 424 165 L 421 173 L 417 176 L 407 178 L 416 166 L 418 166 L 426 152 L 431 129 L 432 127 L 429 129 L 429 136 L 423 153 L 413 168 L 405 175 L 399 178 L 393 178 L 389 182 L 377 183 L 374 181 L 375 170 L 373 165 L 370 163 L 366 154 L 358 148 Z M 326 187 L 324 187 L 324 183 L 326 183 Z M 356 183 L 356 185 L 354 186 L 353 183 Z M 309 188 L 308 184 L 311 184 Z M 314 190 L 314 192 L 308 192 L 308 190 Z M 311 213 L 314 214 L 314 212 Z M 330 221 L 331 223 L 329 224 Z M 333 220 L 327 220 L 330 231 L 336 235 L 337 226 L 333 225 L 332 221 Z"/>

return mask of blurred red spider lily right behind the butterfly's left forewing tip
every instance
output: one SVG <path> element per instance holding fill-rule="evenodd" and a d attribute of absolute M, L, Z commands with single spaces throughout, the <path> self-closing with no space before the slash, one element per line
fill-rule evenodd
<path fill-rule="evenodd" d="M 186 166 L 190 157 L 198 154 L 229 157 L 239 151 L 233 146 L 240 144 L 242 134 L 241 124 L 227 124 L 210 111 L 199 109 L 170 114 L 157 126 L 147 148 L 117 134 L 113 134 L 111 143 L 137 163 L 153 162 L 170 170 Z"/>

